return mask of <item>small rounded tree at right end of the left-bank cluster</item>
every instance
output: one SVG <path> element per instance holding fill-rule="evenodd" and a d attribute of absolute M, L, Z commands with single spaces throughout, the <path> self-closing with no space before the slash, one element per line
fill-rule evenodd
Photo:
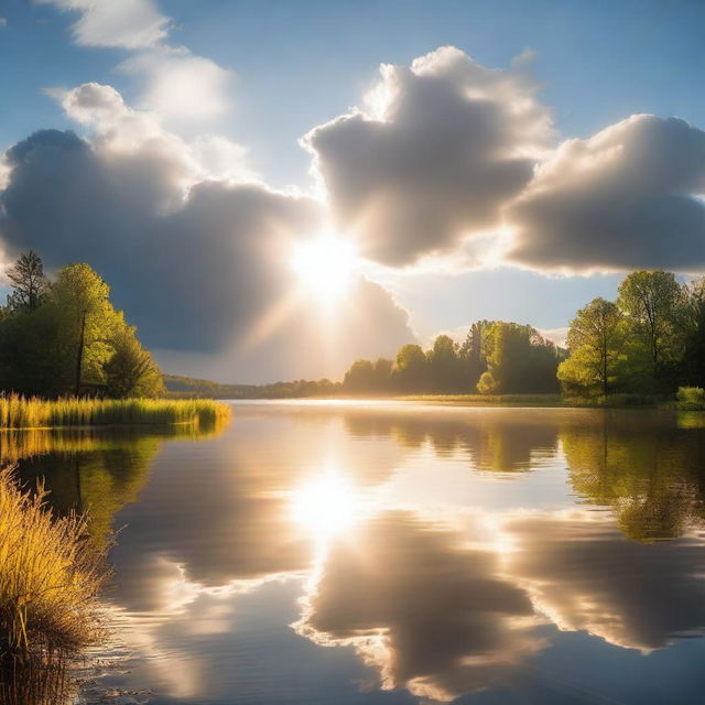
<path fill-rule="evenodd" d="M 105 365 L 110 397 L 159 397 L 164 384 L 151 354 L 137 339 L 133 326 L 117 326 L 110 338 L 112 356 Z"/>

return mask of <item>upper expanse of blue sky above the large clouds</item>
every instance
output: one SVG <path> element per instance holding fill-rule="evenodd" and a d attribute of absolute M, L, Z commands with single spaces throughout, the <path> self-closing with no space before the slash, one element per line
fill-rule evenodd
<path fill-rule="evenodd" d="M 705 4 L 701 0 L 171 0 L 174 43 L 237 74 L 235 109 L 218 128 L 251 145 L 275 185 L 305 178 L 296 140 L 344 112 L 380 63 L 408 64 L 445 44 L 486 66 L 536 53 L 541 97 L 558 130 L 588 134 L 634 112 L 705 116 Z M 108 83 L 120 48 L 74 46 L 75 13 L 2 0 L 0 144 L 28 132 L 73 127 L 42 94 L 48 86 Z"/>

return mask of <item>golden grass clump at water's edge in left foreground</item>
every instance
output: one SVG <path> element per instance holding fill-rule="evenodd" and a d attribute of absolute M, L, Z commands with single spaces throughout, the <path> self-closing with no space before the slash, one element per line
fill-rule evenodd
<path fill-rule="evenodd" d="M 104 634 L 97 596 L 106 549 L 87 540 L 83 517 L 55 517 L 46 492 L 21 488 L 0 470 L 0 701 L 48 683 L 70 654 Z M 28 674 L 37 683 L 28 684 Z M 20 674 L 20 675 L 18 675 Z M 30 702 L 30 701 L 28 701 Z"/>

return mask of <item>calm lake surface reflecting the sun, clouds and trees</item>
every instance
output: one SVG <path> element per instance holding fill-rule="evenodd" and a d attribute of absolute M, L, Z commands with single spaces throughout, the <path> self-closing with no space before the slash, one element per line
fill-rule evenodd
<path fill-rule="evenodd" d="M 88 702 L 704 702 L 705 414 L 234 412 L 0 437 L 120 529 Z"/>

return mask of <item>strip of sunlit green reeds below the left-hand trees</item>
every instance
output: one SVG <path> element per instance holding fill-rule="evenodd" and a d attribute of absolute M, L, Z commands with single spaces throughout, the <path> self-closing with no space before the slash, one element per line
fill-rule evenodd
<path fill-rule="evenodd" d="M 230 408 L 212 399 L 65 399 L 0 397 L 0 429 L 53 429 L 133 424 L 214 426 Z"/>

